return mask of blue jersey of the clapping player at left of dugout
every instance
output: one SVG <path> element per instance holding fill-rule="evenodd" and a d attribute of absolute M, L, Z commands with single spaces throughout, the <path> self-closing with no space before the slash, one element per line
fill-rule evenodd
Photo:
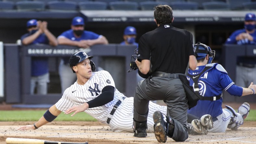
<path fill-rule="evenodd" d="M 30 36 L 30 33 L 26 33 L 21 36 L 21 41 Z M 31 44 L 37 44 L 37 43 L 43 43 L 43 44 L 49 44 L 49 40 L 46 37 L 45 34 L 39 35 Z M 44 57 L 32 57 L 31 59 L 31 76 L 41 76 L 46 73 L 48 73 L 48 58 Z"/>

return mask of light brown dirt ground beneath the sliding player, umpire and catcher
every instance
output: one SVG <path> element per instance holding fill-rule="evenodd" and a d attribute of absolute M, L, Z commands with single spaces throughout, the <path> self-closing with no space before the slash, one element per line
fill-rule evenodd
<path fill-rule="evenodd" d="M 240 104 L 228 104 L 235 109 Z M 251 109 L 255 104 L 251 104 Z M 4 110 L 8 106 L 2 106 Z M 0 105 L 0 110 L 1 105 Z M 17 110 L 9 107 L 9 110 Z M 20 126 L 31 125 L 34 122 L 0 122 L 0 144 L 6 144 L 6 138 L 32 138 L 51 141 L 85 142 L 89 144 L 157 144 L 154 133 L 148 133 L 146 138 L 135 138 L 133 133 L 112 132 L 108 125 L 100 122 L 51 122 L 37 130 L 21 131 Z M 166 143 L 175 144 L 256 144 L 256 122 L 246 121 L 236 131 L 225 133 L 208 133 L 208 135 L 189 135 L 185 142 L 175 142 L 167 138 Z"/>

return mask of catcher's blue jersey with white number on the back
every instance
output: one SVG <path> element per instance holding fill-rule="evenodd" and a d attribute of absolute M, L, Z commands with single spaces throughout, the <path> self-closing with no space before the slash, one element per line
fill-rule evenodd
<path fill-rule="evenodd" d="M 211 68 L 198 76 L 200 95 L 204 97 L 219 96 L 222 95 L 222 90 L 227 90 L 234 84 L 221 65 L 213 63 L 207 64 L 206 66 L 211 66 Z M 204 68 L 205 66 L 198 66 L 194 71 L 189 69 L 188 73 L 197 77 L 197 74 Z M 190 86 L 194 87 L 194 81 L 192 78 L 189 78 L 188 76 L 187 78 L 190 82 Z M 195 107 L 188 110 L 188 113 L 198 117 L 201 117 L 204 114 L 210 114 L 212 117 L 216 117 L 223 113 L 221 106 L 222 102 L 222 97 L 216 101 L 199 100 Z"/>

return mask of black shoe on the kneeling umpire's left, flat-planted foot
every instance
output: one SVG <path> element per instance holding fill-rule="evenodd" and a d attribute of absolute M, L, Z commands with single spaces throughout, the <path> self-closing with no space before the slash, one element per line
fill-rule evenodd
<path fill-rule="evenodd" d="M 137 122 L 133 120 L 134 137 L 145 138 L 147 136 L 147 121 Z"/>

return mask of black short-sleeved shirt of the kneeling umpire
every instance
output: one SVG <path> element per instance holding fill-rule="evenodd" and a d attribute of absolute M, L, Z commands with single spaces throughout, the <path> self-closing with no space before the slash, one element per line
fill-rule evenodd
<path fill-rule="evenodd" d="M 152 72 L 185 74 L 190 55 L 195 55 L 192 34 L 171 24 L 161 24 L 139 39 L 137 58 L 150 60 Z"/>

